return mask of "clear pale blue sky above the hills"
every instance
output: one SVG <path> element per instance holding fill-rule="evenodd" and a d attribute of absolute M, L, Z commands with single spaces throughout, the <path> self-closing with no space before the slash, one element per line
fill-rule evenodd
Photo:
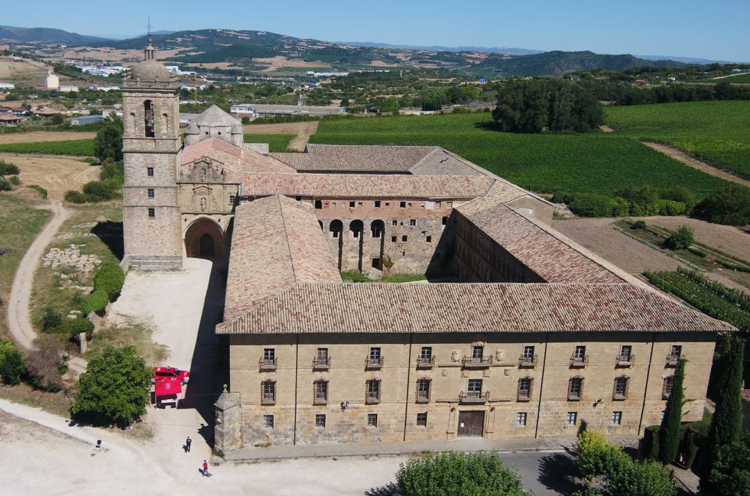
<path fill-rule="evenodd" d="M 84 35 L 257 29 L 324 41 L 592 50 L 750 62 L 748 0 L 5 2 L 0 23 Z"/>

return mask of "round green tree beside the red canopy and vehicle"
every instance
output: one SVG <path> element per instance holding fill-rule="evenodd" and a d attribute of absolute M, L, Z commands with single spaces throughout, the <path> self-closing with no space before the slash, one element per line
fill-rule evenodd
<path fill-rule="evenodd" d="M 125 427 L 145 413 L 151 371 L 135 348 L 107 347 L 78 379 L 80 394 L 71 407 L 74 419 Z"/>

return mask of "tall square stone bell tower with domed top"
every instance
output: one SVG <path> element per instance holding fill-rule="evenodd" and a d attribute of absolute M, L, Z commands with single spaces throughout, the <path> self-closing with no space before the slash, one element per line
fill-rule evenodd
<path fill-rule="evenodd" d="M 178 81 L 150 38 L 144 53 L 122 82 L 124 256 L 133 269 L 180 269 Z"/>

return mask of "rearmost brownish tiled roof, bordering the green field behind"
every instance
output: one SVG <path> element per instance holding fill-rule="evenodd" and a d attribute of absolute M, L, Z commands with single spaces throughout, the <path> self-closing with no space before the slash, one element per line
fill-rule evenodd
<path fill-rule="evenodd" d="M 300 172 L 408 173 L 435 146 L 308 145 L 305 153 L 272 156 Z"/>

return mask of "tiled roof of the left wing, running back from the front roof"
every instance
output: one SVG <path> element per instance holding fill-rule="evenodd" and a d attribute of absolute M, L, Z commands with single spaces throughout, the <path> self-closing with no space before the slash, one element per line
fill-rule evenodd
<path fill-rule="evenodd" d="M 238 206 L 226 284 L 225 318 L 290 284 L 339 282 L 313 206 L 275 195 Z"/>

